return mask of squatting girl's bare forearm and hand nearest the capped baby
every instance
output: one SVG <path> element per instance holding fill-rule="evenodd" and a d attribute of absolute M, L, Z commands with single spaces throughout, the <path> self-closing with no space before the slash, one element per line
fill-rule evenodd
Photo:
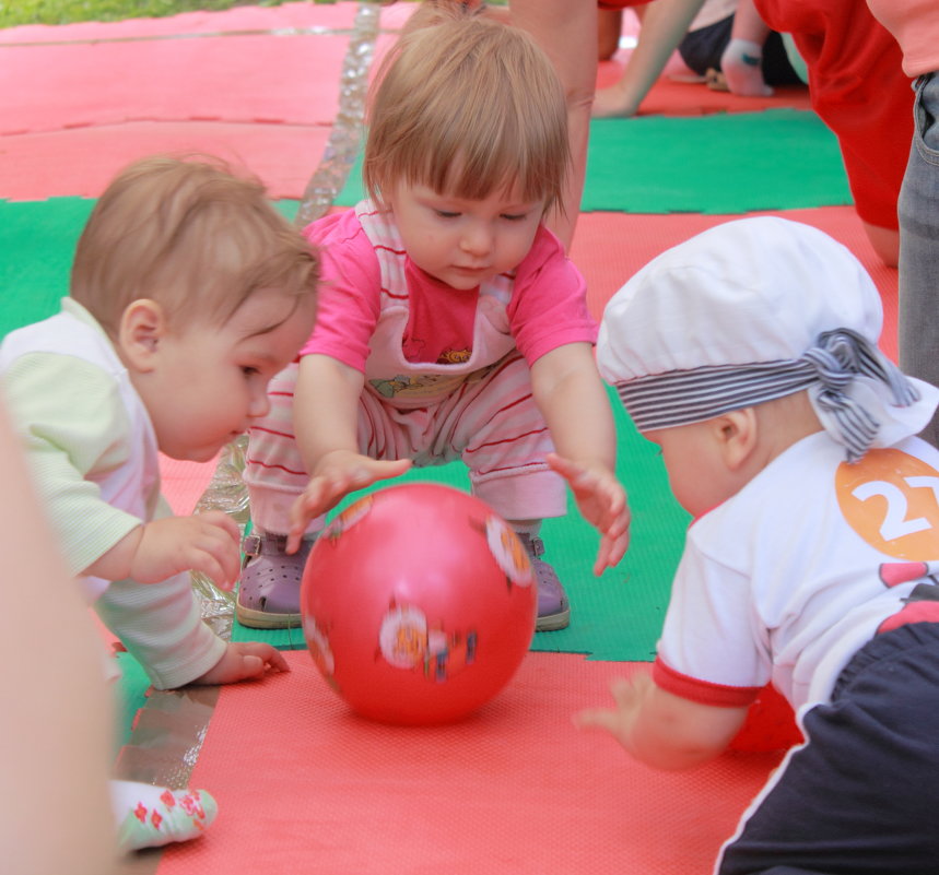
<path fill-rule="evenodd" d="M 531 388 L 557 451 L 548 462 L 602 535 L 594 565 L 599 575 L 626 552 L 630 510 L 615 474 L 613 414 L 590 344 L 568 343 L 542 355 L 531 366 Z"/>

